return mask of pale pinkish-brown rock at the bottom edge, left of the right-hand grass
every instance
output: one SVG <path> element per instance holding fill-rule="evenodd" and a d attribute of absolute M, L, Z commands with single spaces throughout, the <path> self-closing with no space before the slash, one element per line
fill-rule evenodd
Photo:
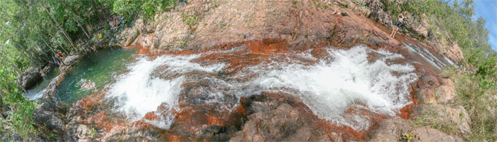
<path fill-rule="evenodd" d="M 450 136 L 429 126 L 413 128 L 411 123 L 398 116 L 382 119 L 379 128 L 369 141 L 399 141 L 402 134 L 413 133 L 411 141 L 462 141 L 458 136 Z"/>

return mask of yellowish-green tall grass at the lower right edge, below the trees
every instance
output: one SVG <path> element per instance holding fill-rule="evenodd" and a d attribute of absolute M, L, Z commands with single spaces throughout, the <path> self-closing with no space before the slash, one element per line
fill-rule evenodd
<path fill-rule="evenodd" d="M 470 73 L 458 73 L 445 69 L 441 77 L 454 81 L 458 97 L 456 105 L 462 105 L 471 119 L 471 134 L 462 136 L 468 141 L 497 141 L 497 87 L 481 88 L 480 82 L 488 80 Z"/>

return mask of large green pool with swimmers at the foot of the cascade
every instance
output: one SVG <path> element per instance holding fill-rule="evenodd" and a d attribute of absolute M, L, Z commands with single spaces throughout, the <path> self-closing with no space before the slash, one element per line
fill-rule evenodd
<path fill-rule="evenodd" d="M 135 50 L 103 49 L 83 57 L 72 69 L 59 86 L 57 86 L 56 99 L 73 103 L 88 94 L 95 92 L 93 88 L 81 88 L 81 85 L 91 80 L 97 90 L 112 83 L 119 72 L 126 70 L 126 65 L 135 57 Z"/>

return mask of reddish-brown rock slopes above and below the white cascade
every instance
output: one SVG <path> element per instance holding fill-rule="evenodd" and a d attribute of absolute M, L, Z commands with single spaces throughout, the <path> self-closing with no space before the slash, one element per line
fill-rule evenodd
<path fill-rule="evenodd" d="M 64 141 L 374 141 L 385 138 L 396 141 L 402 139 L 402 134 L 409 134 L 409 130 L 414 132 L 416 139 L 422 141 L 462 141 L 458 136 L 411 125 L 413 118 L 420 116 L 417 113 L 422 112 L 419 107 L 433 106 L 426 103 L 429 99 L 424 97 L 440 98 L 438 96 L 443 95 L 443 102 L 454 98 L 450 90 L 454 90 L 454 87 L 450 86 L 450 81 L 442 79 L 437 73 L 440 68 L 450 66 L 450 61 L 425 43 L 405 34 L 398 34 L 396 39 L 389 37 L 389 28 L 371 21 L 361 12 L 341 8 L 342 5 L 313 1 L 193 1 L 171 12 L 159 14 L 155 21 L 147 24 L 137 19 L 130 28 L 121 30 L 115 39 L 110 39 L 109 45 L 138 48 L 150 60 L 162 55 L 198 55 L 201 58 L 187 62 L 197 61 L 204 66 L 217 63 L 230 65 L 230 70 L 222 72 L 189 73 L 201 77 L 222 74 L 218 77 L 220 79 L 258 65 L 260 61 L 267 60 L 269 63 L 273 61 L 271 57 L 284 53 L 303 54 L 310 51 L 310 65 L 313 65 L 313 59 L 331 58 L 333 61 L 338 58 L 330 56 L 327 52 L 329 49 L 352 50 L 360 45 L 367 48 L 364 49 L 370 54 L 366 55 L 367 61 L 373 63 L 384 58 L 374 55 L 375 51 L 396 54 L 396 58 L 387 63 L 412 65 L 412 72 L 416 74 L 416 81 L 409 83 L 410 87 L 406 88 L 409 92 L 406 101 L 411 103 L 393 114 L 364 110 L 361 108 L 364 105 L 346 109 L 347 114 L 365 116 L 362 125 L 369 125 L 367 128 L 361 130 L 333 123 L 315 114 L 309 103 L 294 94 L 260 92 L 234 97 L 230 112 L 222 115 L 212 109 L 220 105 L 190 101 L 203 100 L 202 88 L 209 87 L 208 82 L 192 81 L 183 85 L 188 90 L 179 95 L 178 110 L 159 107 L 146 112 L 137 121 L 116 122 L 106 112 L 99 112 L 106 108 L 105 102 L 101 100 L 108 95 L 101 92 L 73 103 L 70 109 L 61 109 L 61 116 L 56 117 L 64 118 L 60 121 L 68 125 L 55 124 L 48 130 L 63 135 Z M 334 8 L 348 16 L 332 14 Z M 237 51 L 238 48 L 242 50 Z M 293 58 L 307 63 L 304 57 Z M 163 67 L 165 69 L 158 68 L 156 72 L 168 72 L 166 69 L 172 66 L 166 65 Z M 396 74 L 400 74 L 400 71 Z M 163 73 L 158 76 L 167 80 L 177 75 Z M 247 77 L 251 79 L 251 76 Z M 58 79 L 52 82 L 59 83 L 63 77 Z M 428 90 L 449 94 L 435 94 Z M 427 105 L 420 105 L 425 103 Z M 45 107 L 42 112 L 56 108 L 59 107 Z M 463 110 L 459 114 L 464 114 Z M 164 114 L 175 114 L 170 128 L 153 123 L 163 121 L 167 116 Z M 462 122 L 461 129 L 465 129 L 466 124 Z M 389 131 L 398 128 L 402 128 L 402 131 Z"/>

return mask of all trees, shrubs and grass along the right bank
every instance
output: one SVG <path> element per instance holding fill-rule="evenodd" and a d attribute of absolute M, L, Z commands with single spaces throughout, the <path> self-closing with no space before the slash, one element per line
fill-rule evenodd
<path fill-rule="evenodd" d="M 497 141 L 497 54 L 489 45 L 489 30 L 485 19 L 474 19 L 474 1 L 381 1 L 386 11 L 396 17 L 403 11 L 410 12 L 414 18 L 426 20 L 429 32 L 438 41 L 455 42 L 465 55 L 457 61 L 466 71 L 454 68 L 442 70 L 442 77 L 455 82 L 458 97 L 456 105 L 463 106 L 471 119 L 471 134 L 462 136 L 469 141 Z M 394 22 L 396 19 L 392 19 Z M 413 32 L 412 29 L 407 29 Z M 420 40 L 420 37 L 416 37 Z M 459 68 L 459 67 L 458 67 Z M 417 120 L 423 121 L 423 120 Z M 450 123 L 438 121 L 426 123 L 449 134 L 457 132 Z"/>

